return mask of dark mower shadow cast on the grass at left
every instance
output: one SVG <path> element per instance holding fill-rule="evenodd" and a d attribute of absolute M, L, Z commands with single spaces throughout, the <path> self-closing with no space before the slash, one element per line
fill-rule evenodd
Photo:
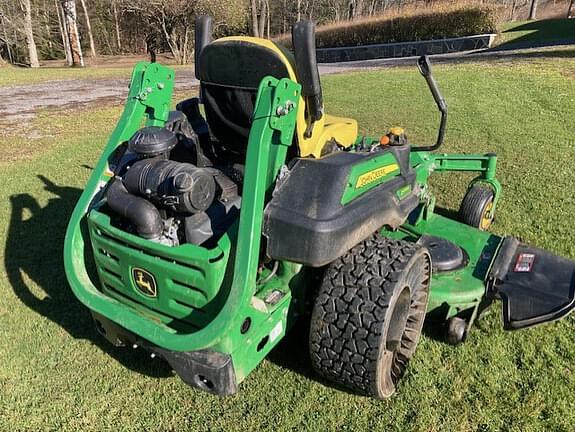
<path fill-rule="evenodd" d="M 56 195 L 46 206 L 41 207 L 29 194 L 10 197 L 12 215 L 4 260 L 14 293 L 30 309 L 58 324 L 72 337 L 91 341 L 125 367 L 152 377 L 171 376 L 167 363 L 152 361 L 141 350 L 116 348 L 98 334 L 90 312 L 72 293 L 64 272 L 66 226 L 82 191 L 38 177 L 45 189 Z M 39 296 L 34 285 L 46 295 Z"/>

